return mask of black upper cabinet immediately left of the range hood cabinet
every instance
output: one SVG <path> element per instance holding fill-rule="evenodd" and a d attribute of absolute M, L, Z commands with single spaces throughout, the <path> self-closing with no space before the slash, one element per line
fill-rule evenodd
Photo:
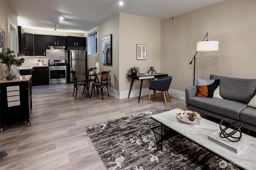
<path fill-rule="evenodd" d="M 46 55 L 46 35 L 34 34 L 34 55 L 45 56 Z"/>

